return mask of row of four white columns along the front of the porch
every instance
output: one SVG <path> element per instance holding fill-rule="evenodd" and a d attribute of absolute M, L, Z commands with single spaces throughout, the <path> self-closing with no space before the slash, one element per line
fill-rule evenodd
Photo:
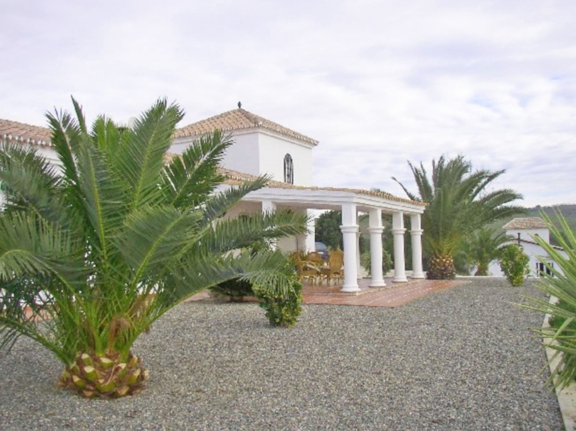
<path fill-rule="evenodd" d="M 411 243 L 412 243 L 412 278 L 423 279 L 422 271 L 422 228 L 420 214 L 412 214 Z M 343 292 L 358 292 L 358 238 L 359 226 L 357 223 L 357 209 L 355 204 L 342 205 L 342 237 L 344 243 L 344 285 Z M 370 287 L 383 287 L 386 285 L 382 273 L 382 210 L 372 208 L 369 212 L 370 232 Z M 404 213 L 401 211 L 392 214 L 392 234 L 394 238 L 394 278 L 395 282 L 408 281 L 406 278 L 406 263 L 404 262 Z"/>

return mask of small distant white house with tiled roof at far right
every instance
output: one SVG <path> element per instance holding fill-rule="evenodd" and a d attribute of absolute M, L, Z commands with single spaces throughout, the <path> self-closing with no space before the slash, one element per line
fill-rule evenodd
<path fill-rule="evenodd" d="M 550 269 L 546 268 L 543 262 L 540 260 L 542 258 L 546 261 L 552 268 L 554 268 L 554 262 L 551 260 L 548 253 L 536 242 L 534 237 L 540 237 L 545 242 L 550 243 L 550 230 L 540 217 L 524 217 L 516 218 L 506 223 L 503 226 L 506 231 L 506 236 L 510 238 L 508 244 L 517 244 L 524 249 L 524 253 L 530 258 L 529 276 L 538 277 L 540 273 L 547 272 L 550 274 Z M 568 257 L 566 251 L 562 247 L 552 246 L 556 250 L 560 251 L 560 254 L 564 257 Z M 559 269 L 560 270 L 560 269 Z M 561 271 L 561 270 L 560 270 Z M 488 268 L 488 273 L 495 276 L 503 276 L 504 273 L 500 269 L 500 264 L 498 261 L 493 261 Z"/>

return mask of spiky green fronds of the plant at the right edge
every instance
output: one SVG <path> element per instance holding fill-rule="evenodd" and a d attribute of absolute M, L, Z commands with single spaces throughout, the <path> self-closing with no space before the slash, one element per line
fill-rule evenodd
<path fill-rule="evenodd" d="M 540 261 L 550 269 L 550 274 L 542 274 L 539 288 L 548 295 L 558 298 L 558 303 L 530 298 L 532 304 L 525 307 L 552 316 L 550 328 L 537 328 L 535 331 L 547 337 L 545 344 L 556 350 L 552 360 L 558 355 L 562 357 L 550 377 L 554 386 L 562 388 L 573 382 L 576 377 L 576 235 L 562 213 L 558 212 L 557 215 L 560 227 L 556 227 L 552 219 L 544 213 L 540 216 L 545 220 L 551 235 L 558 241 L 566 256 L 540 237 L 535 237 L 534 241 L 539 243 L 555 263 L 552 266 L 547 258 L 541 258 Z"/>

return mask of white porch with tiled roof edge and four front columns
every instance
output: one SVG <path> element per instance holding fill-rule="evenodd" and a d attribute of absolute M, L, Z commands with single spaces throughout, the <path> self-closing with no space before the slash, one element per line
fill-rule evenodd
<path fill-rule="evenodd" d="M 226 173 L 227 183 L 234 184 L 246 180 L 245 174 L 234 176 Z M 238 184 L 238 183 L 236 183 Z M 420 215 L 425 204 L 402 199 L 388 193 L 372 190 L 322 188 L 294 186 L 270 181 L 267 187 L 247 194 L 245 201 L 261 203 L 262 211 L 273 211 L 278 205 L 302 209 L 337 209 L 342 211 L 344 243 L 344 285 L 343 292 L 358 292 L 359 235 L 358 213 L 369 214 L 370 233 L 370 287 L 382 287 L 386 283 L 382 274 L 382 213 L 392 213 L 392 234 L 394 239 L 393 281 L 402 283 L 406 278 L 404 262 L 404 215 L 411 218 L 412 278 L 423 279 L 422 271 L 422 228 Z"/>

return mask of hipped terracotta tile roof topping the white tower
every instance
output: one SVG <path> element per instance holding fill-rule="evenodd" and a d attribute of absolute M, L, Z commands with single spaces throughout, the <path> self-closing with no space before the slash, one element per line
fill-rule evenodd
<path fill-rule="evenodd" d="M 214 129 L 221 129 L 223 132 L 232 132 L 234 130 L 254 128 L 267 129 L 276 132 L 277 134 L 287 136 L 288 138 L 304 141 L 308 144 L 318 144 L 318 141 L 315 139 L 309 138 L 308 136 L 302 135 L 284 127 L 283 125 L 274 123 L 274 121 L 267 120 L 242 108 L 229 110 L 228 112 L 215 115 L 206 120 L 200 120 L 196 123 L 176 129 L 173 138 L 203 135 L 214 131 Z"/>

